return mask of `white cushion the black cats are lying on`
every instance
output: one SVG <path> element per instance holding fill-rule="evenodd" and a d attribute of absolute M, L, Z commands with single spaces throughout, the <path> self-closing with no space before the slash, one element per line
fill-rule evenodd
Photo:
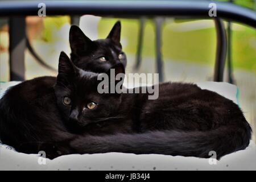
<path fill-rule="evenodd" d="M 17 82 L 0 83 L 0 97 Z M 199 82 L 203 89 L 213 90 L 238 103 L 238 88 L 225 82 Z M 216 164 L 212 159 L 170 155 L 135 155 L 110 152 L 107 154 L 73 154 L 46 159 L 38 155 L 22 154 L 0 145 L 0 170 L 255 170 L 256 146 L 250 142 L 246 150 L 224 156 Z M 212 163 L 213 162 L 213 163 Z"/>

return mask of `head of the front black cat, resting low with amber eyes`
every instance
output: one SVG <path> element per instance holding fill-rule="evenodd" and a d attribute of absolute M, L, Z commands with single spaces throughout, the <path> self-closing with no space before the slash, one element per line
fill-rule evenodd
<path fill-rule="evenodd" d="M 114 65 L 113 69 L 115 75 L 125 73 L 125 68 L 120 63 Z M 106 74 L 110 76 L 110 71 Z M 99 75 L 77 68 L 64 52 L 60 53 L 59 73 L 54 90 L 57 106 L 69 125 L 82 127 L 106 121 L 110 115 L 118 112 L 122 94 L 100 94 L 98 84 L 101 81 L 97 79 Z"/>

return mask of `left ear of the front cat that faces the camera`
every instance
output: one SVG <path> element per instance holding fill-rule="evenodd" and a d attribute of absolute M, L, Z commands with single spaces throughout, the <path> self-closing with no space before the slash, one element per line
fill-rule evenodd
<path fill-rule="evenodd" d="M 77 68 L 75 67 L 75 65 L 73 65 L 72 61 L 69 59 L 67 54 L 61 51 L 59 57 L 57 82 L 68 81 L 70 78 L 75 76 L 76 72 Z"/>

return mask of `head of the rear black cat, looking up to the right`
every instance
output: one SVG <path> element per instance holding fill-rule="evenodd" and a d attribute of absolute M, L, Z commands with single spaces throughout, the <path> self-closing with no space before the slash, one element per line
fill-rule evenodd
<path fill-rule="evenodd" d="M 85 71 L 104 73 L 113 65 L 122 63 L 126 67 L 126 55 L 120 43 L 121 23 L 118 21 L 106 39 L 90 40 L 79 27 L 71 26 L 69 43 L 71 60 Z"/>

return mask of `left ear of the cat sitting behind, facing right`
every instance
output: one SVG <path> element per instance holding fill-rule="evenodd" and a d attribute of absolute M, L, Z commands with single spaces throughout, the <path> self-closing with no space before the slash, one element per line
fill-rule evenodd
<path fill-rule="evenodd" d="M 75 53 L 77 56 L 81 56 L 85 51 L 88 51 L 93 42 L 79 27 L 72 25 L 69 30 L 69 44 L 72 53 Z"/>

